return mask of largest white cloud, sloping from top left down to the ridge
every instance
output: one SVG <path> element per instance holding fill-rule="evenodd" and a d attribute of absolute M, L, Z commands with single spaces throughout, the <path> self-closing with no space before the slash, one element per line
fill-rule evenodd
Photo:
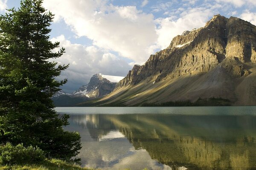
<path fill-rule="evenodd" d="M 105 0 L 44 0 L 44 6 L 56 14 L 56 21 L 63 18 L 77 36 L 136 62 L 148 59 L 149 47 L 157 40 L 153 14 L 136 6 L 113 6 Z"/>

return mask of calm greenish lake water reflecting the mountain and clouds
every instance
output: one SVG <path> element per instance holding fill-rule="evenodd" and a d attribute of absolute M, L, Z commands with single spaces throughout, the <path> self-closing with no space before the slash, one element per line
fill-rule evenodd
<path fill-rule="evenodd" d="M 103 170 L 256 170 L 256 107 L 55 108 Z"/>

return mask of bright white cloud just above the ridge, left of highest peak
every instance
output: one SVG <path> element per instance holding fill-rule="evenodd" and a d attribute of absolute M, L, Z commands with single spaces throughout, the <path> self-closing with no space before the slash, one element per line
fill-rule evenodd
<path fill-rule="evenodd" d="M 183 31 L 191 31 L 193 28 L 203 27 L 209 17 L 212 16 L 213 11 L 211 9 L 192 8 L 188 11 L 183 11 L 177 20 L 172 20 L 169 17 L 157 19 L 155 21 L 159 24 L 157 28 L 157 44 L 161 49 L 168 47 L 173 37 L 182 34 Z"/>

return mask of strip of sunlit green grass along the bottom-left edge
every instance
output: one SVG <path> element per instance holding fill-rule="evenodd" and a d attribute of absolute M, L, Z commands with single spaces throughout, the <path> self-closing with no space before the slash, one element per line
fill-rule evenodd
<path fill-rule="evenodd" d="M 95 170 L 67 163 L 58 159 L 46 159 L 40 164 L 0 165 L 0 170 Z"/>

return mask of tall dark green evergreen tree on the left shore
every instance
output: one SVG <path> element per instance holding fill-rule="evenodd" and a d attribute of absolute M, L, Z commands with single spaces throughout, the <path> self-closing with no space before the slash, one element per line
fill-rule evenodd
<path fill-rule="evenodd" d="M 63 130 L 68 115 L 58 116 L 51 97 L 67 82 L 56 81 L 68 65 L 53 49 L 49 26 L 54 15 L 43 0 L 21 0 L 20 8 L 0 16 L 0 143 L 38 146 L 52 157 L 70 159 L 81 149 L 79 133 Z"/>

